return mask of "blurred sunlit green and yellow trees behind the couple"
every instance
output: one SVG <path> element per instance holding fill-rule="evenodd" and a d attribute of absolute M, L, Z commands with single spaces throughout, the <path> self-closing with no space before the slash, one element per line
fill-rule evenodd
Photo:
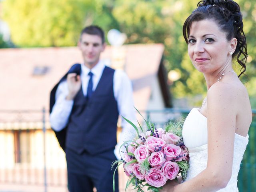
<path fill-rule="evenodd" d="M 127 34 L 126 43 L 163 43 L 164 65 L 176 70 L 181 78 L 172 84 L 176 98 L 194 98 L 206 94 L 203 75 L 194 69 L 182 36 L 185 19 L 196 8 L 198 0 L 6 0 L 2 2 L 2 18 L 8 22 L 12 41 L 20 47 L 75 46 L 80 30 L 89 24 L 101 26 L 105 32 L 117 28 Z M 256 2 L 237 0 L 244 15 L 244 31 L 248 40 L 246 74 L 253 106 L 256 107 Z M 235 61 L 234 61 L 235 62 Z M 237 66 L 237 65 L 236 65 Z M 235 67 L 239 72 L 239 67 Z M 246 82 L 247 77 L 243 76 Z"/>

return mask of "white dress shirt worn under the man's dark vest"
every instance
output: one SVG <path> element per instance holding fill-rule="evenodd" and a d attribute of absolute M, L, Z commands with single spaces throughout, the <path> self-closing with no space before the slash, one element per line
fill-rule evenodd
<path fill-rule="evenodd" d="M 88 73 L 91 71 L 93 73 L 92 82 L 94 91 L 100 81 L 102 72 L 105 68 L 104 62 L 100 61 L 94 68 L 91 70 L 85 65 L 81 65 L 81 82 L 82 82 L 82 91 L 84 95 L 87 94 L 87 86 L 90 76 Z M 122 70 L 115 70 L 114 72 L 114 97 L 117 101 L 119 114 L 132 121 L 134 124 L 136 122 L 135 110 L 134 110 L 134 101 L 132 95 L 132 84 L 128 76 Z M 50 123 L 52 129 L 55 131 L 62 130 L 67 124 L 68 119 L 74 104 L 74 100 L 66 100 L 68 95 L 68 84 L 65 81 L 61 82 L 56 90 L 56 102 L 52 108 L 50 114 Z M 114 151 L 116 157 L 120 159 L 119 148 L 121 144 L 126 140 L 132 140 L 135 137 L 134 128 L 122 118 L 121 120 L 122 132 L 119 137 L 119 142 Z"/>

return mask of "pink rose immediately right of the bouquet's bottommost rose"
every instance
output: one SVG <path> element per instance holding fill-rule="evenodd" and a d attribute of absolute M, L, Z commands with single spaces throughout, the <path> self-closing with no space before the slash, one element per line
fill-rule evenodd
<path fill-rule="evenodd" d="M 166 161 L 161 170 L 167 179 L 173 180 L 178 175 L 180 167 L 175 162 Z"/>

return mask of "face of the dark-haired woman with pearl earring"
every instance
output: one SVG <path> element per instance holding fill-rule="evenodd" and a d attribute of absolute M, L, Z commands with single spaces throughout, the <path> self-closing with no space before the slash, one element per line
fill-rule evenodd
<path fill-rule="evenodd" d="M 194 67 L 203 73 L 222 70 L 232 60 L 229 54 L 233 50 L 231 41 L 226 39 L 226 33 L 212 20 L 192 22 L 188 36 L 188 54 Z"/>

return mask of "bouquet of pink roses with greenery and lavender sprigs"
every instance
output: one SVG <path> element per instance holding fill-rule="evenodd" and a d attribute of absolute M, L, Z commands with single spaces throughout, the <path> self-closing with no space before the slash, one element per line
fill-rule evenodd
<path fill-rule="evenodd" d="M 138 113 L 140 114 L 139 111 Z M 117 164 L 124 166 L 124 172 L 129 177 L 125 191 L 132 184 L 138 192 L 143 192 L 144 186 L 148 187 L 148 190 L 159 192 L 167 180 L 177 179 L 177 176 L 181 176 L 182 180 L 186 179 L 189 164 L 188 151 L 182 138 L 183 121 L 168 122 L 163 129 L 156 128 L 150 120 L 144 119 L 147 128 L 143 130 L 139 122 L 139 128 L 137 128 L 128 119 L 124 119 L 137 132 L 134 140 L 122 144 L 126 150 L 119 150 L 124 158 L 112 163 L 112 168 Z M 115 190 L 114 176 L 113 190 Z"/>

